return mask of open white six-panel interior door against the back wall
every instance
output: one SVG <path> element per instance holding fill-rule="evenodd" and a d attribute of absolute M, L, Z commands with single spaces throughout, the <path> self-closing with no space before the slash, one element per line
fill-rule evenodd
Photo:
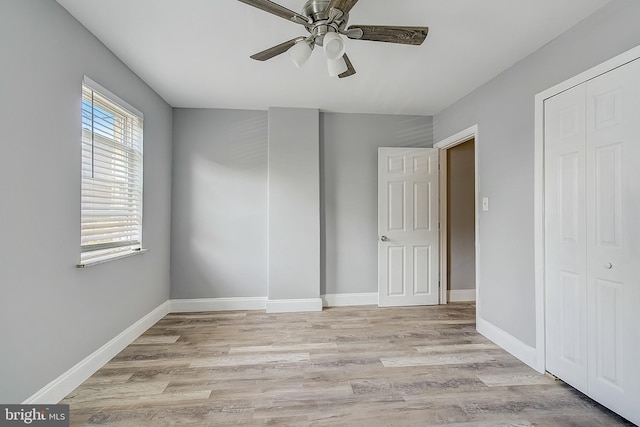
<path fill-rule="evenodd" d="M 438 304 L 438 149 L 378 149 L 378 304 Z"/>

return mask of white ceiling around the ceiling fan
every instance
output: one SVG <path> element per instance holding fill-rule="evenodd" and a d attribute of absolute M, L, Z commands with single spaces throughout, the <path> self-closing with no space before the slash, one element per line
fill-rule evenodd
<path fill-rule="evenodd" d="M 609 0 L 361 0 L 350 24 L 428 26 L 422 46 L 347 40 L 357 74 L 315 50 L 249 56 L 304 27 L 236 0 L 57 0 L 174 107 L 433 115 Z M 300 11 L 305 0 L 279 0 Z"/>

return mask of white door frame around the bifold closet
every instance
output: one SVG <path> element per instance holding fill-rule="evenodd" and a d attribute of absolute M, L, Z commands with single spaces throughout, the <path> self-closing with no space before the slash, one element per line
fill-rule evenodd
<path fill-rule="evenodd" d="M 545 210 L 544 210 L 544 102 L 566 90 L 585 83 L 602 74 L 608 73 L 629 62 L 640 59 L 640 46 L 630 49 L 600 65 L 559 83 L 535 97 L 535 129 L 534 129 L 534 281 L 536 304 L 536 364 L 535 368 L 546 371 L 545 344 Z"/>

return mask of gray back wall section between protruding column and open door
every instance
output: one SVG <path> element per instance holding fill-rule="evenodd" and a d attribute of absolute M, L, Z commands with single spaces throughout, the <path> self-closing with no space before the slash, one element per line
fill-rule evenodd
<path fill-rule="evenodd" d="M 378 147 L 431 147 L 431 117 L 320 115 L 321 294 L 378 291 Z"/>

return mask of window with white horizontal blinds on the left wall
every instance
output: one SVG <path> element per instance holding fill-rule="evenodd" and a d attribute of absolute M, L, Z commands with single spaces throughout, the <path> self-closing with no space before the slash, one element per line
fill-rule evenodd
<path fill-rule="evenodd" d="M 80 267 L 141 249 L 142 129 L 142 113 L 84 78 Z"/>

